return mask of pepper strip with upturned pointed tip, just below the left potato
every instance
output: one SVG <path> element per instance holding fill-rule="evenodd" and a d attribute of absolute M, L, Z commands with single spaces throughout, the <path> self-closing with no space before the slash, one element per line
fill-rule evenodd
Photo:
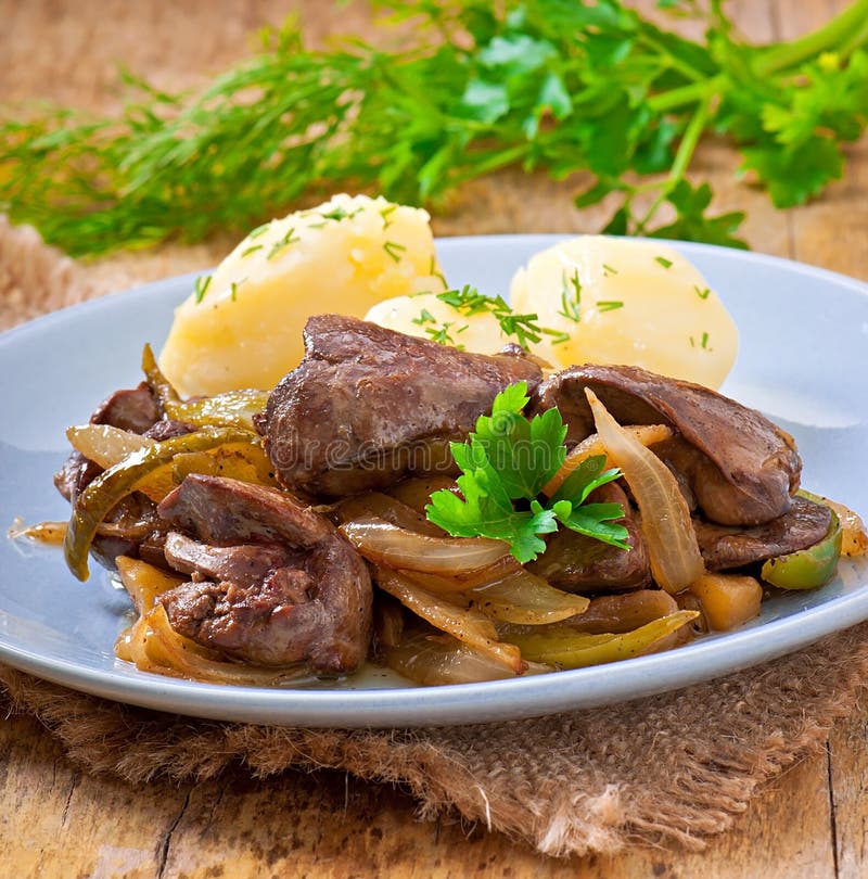
<path fill-rule="evenodd" d="M 182 400 L 157 366 L 150 345 L 142 351 L 142 371 L 166 416 L 196 428 L 253 430 L 253 416 L 265 409 L 270 396 L 269 391 L 244 390 Z"/>

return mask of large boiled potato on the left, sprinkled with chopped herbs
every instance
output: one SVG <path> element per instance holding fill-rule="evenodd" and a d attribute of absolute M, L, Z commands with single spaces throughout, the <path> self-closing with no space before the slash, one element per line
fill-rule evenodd
<path fill-rule="evenodd" d="M 159 366 L 188 396 L 268 390 L 298 365 L 310 315 L 361 317 L 443 290 L 426 212 L 335 195 L 255 229 L 176 309 Z"/>

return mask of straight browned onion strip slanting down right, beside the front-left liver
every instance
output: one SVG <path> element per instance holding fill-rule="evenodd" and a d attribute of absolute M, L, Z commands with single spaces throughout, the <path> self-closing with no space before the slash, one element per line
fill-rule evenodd
<path fill-rule="evenodd" d="M 397 598 L 401 604 L 435 628 L 470 645 L 515 674 L 524 671 L 521 650 L 513 645 L 499 641 L 492 621 L 478 611 L 457 607 L 432 595 L 409 577 L 388 568 L 378 568 L 374 571 L 374 581 L 383 591 Z"/>

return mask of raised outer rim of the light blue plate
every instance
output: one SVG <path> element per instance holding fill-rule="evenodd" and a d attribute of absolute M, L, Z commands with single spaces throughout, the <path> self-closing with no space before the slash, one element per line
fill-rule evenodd
<path fill-rule="evenodd" d="M 523 246 L 536 243 L 541 249 L 574 237 L 574 233 L 454 235 L 436 238 L 435 245 L 463 250 L 489 241 L 501 245 L 520 241 Z M 774 269 L 794 271 L 818 282 L 834 283 L 868 296 L 868 283 L 865 281 L 795 259 L 713 244 L 666 239 L 634 240 L 667 244 L 684 252 L 688 257 L 691 254 L 709 253 L 716 258 L 722 256 L 727 259 L 731 258 L 736 263 L 746 262 L 748 264 L 770 266 Z M 66 306 L 0 334 L 0 347 L 15 344 L 30 332 L 68 320 L 74 314 L 99 313 L 105 307 L 114 307 L 118 301 L 131 297 L 138 300 L 145 296 L 154 289 L 167 291 L 175 288 L 181 290 L 182 284 L 192 286 L 193 280 L 206 271 L 208 269 L 137 284 L 95 300 Z M 854 614 L 854 606 L 860 608 L 858 613 Z M 801 625 L 803 613 L 809 613 L 815 623 L 807 634 Z M 540 716 L 682 689 L 796 652 L 809 644 L 844 630 L 851 625 L 857 625 L 867 619 L 868 600 L 863 590 L 857 589 L 847 595 L 832 597 L 814 608 L 802 612 L 796 611 L 762 625 L 694 641 L 676 651 L 622 661 L 629 663 L 630 668 L 635 672 L 634 678 L 643 679 L 643 685 L 639 690 L 636 689 L 636 681 L 629 675 L 621 675 L 621 679 L 610 685 L 604 692 L 600 691 L 598 685 L 590 688 L 592 690 L 590 696 L 585 693 L 585 698 L 580 699 L 576 699 L 575 690 L 580 689 L 585 678 L 601 678 L 599 670 L 605 666 L 441 687 L 288 689 L 202 684 L 150 675 L 133 670 L 127 674 L 118 674 L 115 670 L 87 667 L 74 662 L 61 663 L 40 655 L 38 652 L 14 645 L 10 646 L 2 635 L 0 635 L 0 660 L 40 678 L 81 692 L 158 711 L 228 722 L 241 721 L 271 725 L 407 728 Z M 817 621 L 820 625 L 817 625 Z M 769 638 L 769 635 L 777 637 Z M 753 648 L 746 650 L 749 659 L 742 662 L 736 661 L 724 668 L 718 667 L 714 664 L 714 660 L 719 659 L 723 653 L 731 654 L 733 639 L 737 640 L 740 652 L 743 652 L 743 648 Z M 763 649 L 761 649 L 762 645 L 757 644 L 762 640 L 769 641 Z M 682 661 L 673 662 L 673 658 Z M 688 681 L 679 683 L 679 678 L 685 677 L 680 671 L 681 666 L 690 666 L 692 658 L 705 660 L 702 666 L 705 672 L 699 675 L 691 674 Z M 617 675 L 615 677 L 618 678 Z M 414 714 L 424 714 L 429 718 L 436 715 L 436 719 L 413 719 Z"/>

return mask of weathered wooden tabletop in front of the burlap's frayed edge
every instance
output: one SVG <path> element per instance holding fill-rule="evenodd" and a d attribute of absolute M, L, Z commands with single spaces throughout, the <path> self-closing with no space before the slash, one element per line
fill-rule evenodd
<path fill-rule="evenodd" d="M 786 774 L 706 853 L 554 861 L 482 827 L 416 821 L 410 798 L 336 772 L 289 773 L 267 781 L 237 773 L 197 786 L 132 788 L 82 776 L 50 739 L 31 730 L 18 729 L 11 750 L 0 802 L 14 806 L 14 823 L 10 816 L 0 824 L 0 857 L 15 866 L 10 875 L 16 876 L 833 875 L 826 840 L 804 823 L 805 815 L 822 815 L 828 806 L 825 784 L 817 785 L 825 756 Z M 9 777 L 17 779 L 14 791 Z M 800 803 L 795 815 L 793 802 Z"/>

